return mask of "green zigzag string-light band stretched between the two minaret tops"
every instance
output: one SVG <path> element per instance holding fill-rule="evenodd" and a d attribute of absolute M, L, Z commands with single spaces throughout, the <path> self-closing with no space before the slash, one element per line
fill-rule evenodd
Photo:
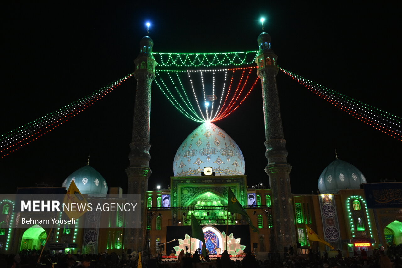
<path fill-rule="evenodd" d="M 254 64 L 256 51 L 226 53 L 158 53 L 153 52 L 158 66 L 209 67 Z M 240 56 L 241 55 L 241 56 Z"/>

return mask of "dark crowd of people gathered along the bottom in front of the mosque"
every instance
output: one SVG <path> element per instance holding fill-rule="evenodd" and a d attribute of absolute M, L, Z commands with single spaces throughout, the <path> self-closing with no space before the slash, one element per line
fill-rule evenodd
<path fill-rule="evenodd" d="M 39 251 L 23 250 L 19 254 L 0 255 L 0 268 L 20 267 L 42 267 L 42 268 L 136 268 L 138 265 L 138 254 L 117 255 L 107 254 L 52 254 L 43 252 L 39 258 Z M 255 258 L 254 254 L 248 253 L 242 260 L 231 260 L 225 250 L 216 260 L 211 260 L 207 265 L 210 268 L 402 268 L 402 246 L 391 246 L 387 252 L 374 249 L 370 254 L 364 250 L 353 252 L 350 256 L 344 257 L 338 251 L 334 257 L 328 257 L 326 251 L 310 251 L 307 255 L 300 255 L 297 252 L 289 251 L 285 258 L 277 252 L 269 254 L 267 260 Z M 194 262 L 207 261 L 195 252 L 191 255 L 180 252 L 175 260 L 162 261 L 162 256 L 142 256 L 142 267 L 144 268 L 190 268 Z M 172 263 L 173 262 L 173 263 Z"/>

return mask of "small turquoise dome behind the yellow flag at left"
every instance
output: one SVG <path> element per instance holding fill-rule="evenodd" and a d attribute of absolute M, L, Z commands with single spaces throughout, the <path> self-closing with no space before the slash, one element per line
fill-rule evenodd
<path fill-rule="evenodd" d="M 90 165 L 86 165 L 71 173 L 64 180 L 62 186 L 68 189 L 73 180 L 81 194 L 87 194 L 91 197 L 106 197 L 107 195 L 108 187 L 105 179 Z"/>

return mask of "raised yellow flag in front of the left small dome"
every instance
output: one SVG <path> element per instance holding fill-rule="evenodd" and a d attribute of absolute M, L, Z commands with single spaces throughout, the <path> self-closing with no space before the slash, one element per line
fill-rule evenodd
<path fill-rule="evenodd" d="M 67 194 L 64 196 L 64 212 L 66 212 L 70 220 L 73 218 L 76 220 L 85 214 L 88 209 L 87 205 L 88 202 L 86 202 L 74 180 L 72 180 Z"/>

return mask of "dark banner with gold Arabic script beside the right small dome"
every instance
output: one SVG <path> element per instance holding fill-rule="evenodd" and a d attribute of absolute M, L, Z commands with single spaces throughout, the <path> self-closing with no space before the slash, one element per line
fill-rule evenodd
<path fill-rule="evenodd" d="M 368 208 L 402 207 L 402 183 L 363 183 Z"/>

